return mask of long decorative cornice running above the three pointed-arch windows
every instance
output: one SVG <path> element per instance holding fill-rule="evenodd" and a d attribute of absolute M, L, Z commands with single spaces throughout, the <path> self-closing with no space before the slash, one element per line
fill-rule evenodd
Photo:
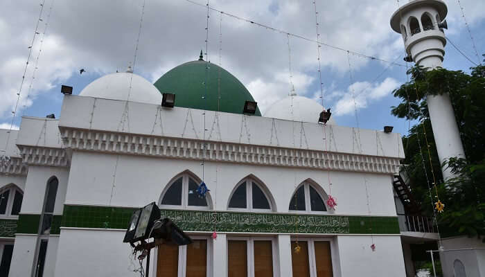
<path fill-rule="evenodd" d="M 64 147 L 71 150 L 191 160 L 202 160 L 204 151 L 202 149 L 203 142 L 195 139 L 80 130 L 67 127 L 61 127 L 60 129 Z M 205 160 L 227 163 L 251 163 L 260 166 L 394 174 L 398 172 L 400 159 L 206 141 Z"/>

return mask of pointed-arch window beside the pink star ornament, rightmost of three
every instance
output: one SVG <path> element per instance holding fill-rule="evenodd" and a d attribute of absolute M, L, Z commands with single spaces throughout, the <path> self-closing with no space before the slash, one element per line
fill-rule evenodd
<path fill-rule="evenodd" d="M 328 195 L 316 181 L 308 178 L 295 188 L 288 210 L 303 213 L 324 213 L 330 211 L 326 206 Z"/>

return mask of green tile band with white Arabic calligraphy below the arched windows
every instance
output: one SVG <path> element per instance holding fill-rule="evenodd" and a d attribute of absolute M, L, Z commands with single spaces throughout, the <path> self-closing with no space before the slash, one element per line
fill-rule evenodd
<path fill-rule="evenodd" d="M 126 229 L 135 208 L 64 206 L 63 227 Z M 399 234 L 398 217 L 161 210 L 184 231 Z"/>

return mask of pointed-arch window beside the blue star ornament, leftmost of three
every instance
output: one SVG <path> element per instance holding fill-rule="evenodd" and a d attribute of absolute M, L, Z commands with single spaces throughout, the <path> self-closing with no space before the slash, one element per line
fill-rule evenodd
<path fill-rule="evenodd" d="M 200 181 L 189 173 L 179 175 L 170 181 L 161 197 L 161 206 L 165 208 L 189 208 L 208 210 L 211 208 L 209 193 L 205 198 L 197 195 Z"/>

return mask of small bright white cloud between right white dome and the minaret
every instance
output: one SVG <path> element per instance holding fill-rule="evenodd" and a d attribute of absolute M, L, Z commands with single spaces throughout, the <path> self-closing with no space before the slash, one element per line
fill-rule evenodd
<path fill-rule="evenodd" d="M 378 101 L 391 94 L 399 83 L 394 78 L 386 78 L 381 83 L 354 82 L 347 91 L 334 91 L 340 95 L 335 102 L 335 116 L 353 114 L 355 109 L 366 108 L 370 102 Z"/>

